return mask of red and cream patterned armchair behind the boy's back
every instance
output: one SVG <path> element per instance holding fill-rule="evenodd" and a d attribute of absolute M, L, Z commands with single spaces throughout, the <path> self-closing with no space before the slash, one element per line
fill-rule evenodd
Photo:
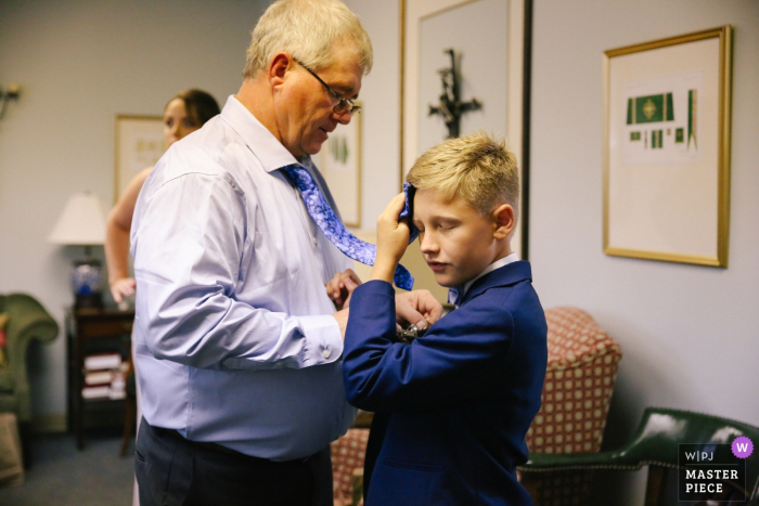
<path fill-rule="evenodd" d="M 530 454 L 596 453 L 601 450 L 617 366 L 617 345 L 587 312 L 570 307 L 545 311 L 549 361 L 543 404 L 527 433 Z M 536 505 L 584 504 L 591 471 L 530 472 L 522 483 Z"/>

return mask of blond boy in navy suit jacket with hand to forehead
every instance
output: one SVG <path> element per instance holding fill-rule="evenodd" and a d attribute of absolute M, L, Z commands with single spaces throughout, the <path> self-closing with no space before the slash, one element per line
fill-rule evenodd
<path fill-rule="evenodd" d="M 409 241 L 398 195 L 377 220 L 372 277 L 351 294 L 345 336 L 348 400 L 375 412 L 365 504 L 530 505 L 516 466 L 540 407 L 546 325 L 530 265 L 511 249 L 514 155 L 483 133 L 451 139 L 407 179 L 422 254 L 458 308 L 411 343 L 396 338 L 390 283 Z"/>

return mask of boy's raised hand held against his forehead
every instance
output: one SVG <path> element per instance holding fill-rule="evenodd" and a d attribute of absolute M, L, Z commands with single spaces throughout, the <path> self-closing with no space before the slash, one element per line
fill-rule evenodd
<path fill-rule="evenodd" d="M 377 256 L 374 259 L 372 280 L 393 283 L 396 267 L 409 246 L 409 225 L 398 221 L 406 196 L 396 195 L 377 218 Z"/>

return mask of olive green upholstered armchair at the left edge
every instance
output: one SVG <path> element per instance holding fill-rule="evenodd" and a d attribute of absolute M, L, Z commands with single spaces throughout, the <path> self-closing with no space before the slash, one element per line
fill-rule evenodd
<path fill-rule="evenodd" d="M 0 412 L 15 413 L 18 419 L 25 462 L 28 463 L 28 432 L 31 425 L 31 395 L 26 371 L 26 350 L 31 339 L 51 341 L 59 326 L 35 298 L 25 294 L 0 296 L 0 314 L 5 323 L 5 365 L 0 366 Z"/>

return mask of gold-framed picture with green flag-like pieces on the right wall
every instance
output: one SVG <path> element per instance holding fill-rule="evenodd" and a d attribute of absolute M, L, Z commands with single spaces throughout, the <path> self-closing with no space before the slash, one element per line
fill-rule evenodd
<path fill-rule="evenodd" d="M 603 56 L 606 255 L 728 267 L 732 28 Z"/>

